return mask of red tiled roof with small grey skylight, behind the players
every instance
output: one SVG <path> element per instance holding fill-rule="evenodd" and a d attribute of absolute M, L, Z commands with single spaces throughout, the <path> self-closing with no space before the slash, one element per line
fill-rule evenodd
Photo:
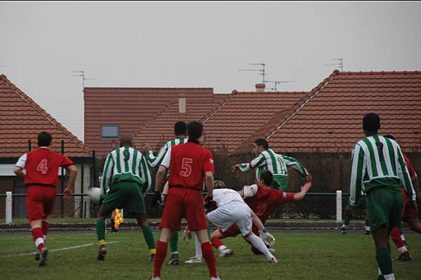
<path fill-rule="evenodd" d="M 85 144 L 106 156 L 121 135 L 134 135 L 170 102 L 213 102 L 213 88 L 84 88 Z"/>

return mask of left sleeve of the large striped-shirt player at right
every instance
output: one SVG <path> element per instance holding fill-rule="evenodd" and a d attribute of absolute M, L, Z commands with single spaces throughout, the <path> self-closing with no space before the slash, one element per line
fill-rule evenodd
<path fill-rule="evenodd" d="M 361 186 L 366 171 L 366 161 L 364 161 L 364 150 L 356 144 L 352 149 L 351 160 L 351 182 L 349 183 L 349 206 L 355 206 L 356 201 L 361 196 Z"/>

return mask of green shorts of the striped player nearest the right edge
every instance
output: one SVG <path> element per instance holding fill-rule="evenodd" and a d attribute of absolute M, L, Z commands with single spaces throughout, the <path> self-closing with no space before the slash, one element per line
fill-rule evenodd
<path fill-rule="evenodd" d="M 399 190 L 379 187 L 367 194 L 368 220 L 371 231 L 386 225 L 392 230 L 400 227 L 402 220 L 403 196 Z"/>

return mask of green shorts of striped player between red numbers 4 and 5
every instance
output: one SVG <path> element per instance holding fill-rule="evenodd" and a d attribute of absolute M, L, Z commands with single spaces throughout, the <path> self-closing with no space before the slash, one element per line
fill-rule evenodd
<path fill-rule="evenodd" d="M 124 209 L 128 213 L 146 213 L 145 199 L 137 182 L 121 181 L 113 184 L 102 205 L 110 209 Z"/>

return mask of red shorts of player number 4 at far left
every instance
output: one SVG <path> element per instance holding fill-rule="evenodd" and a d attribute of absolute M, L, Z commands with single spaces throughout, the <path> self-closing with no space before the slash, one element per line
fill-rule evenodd
<path fill-rule="evenodd" d="M 27 187 L 27 216 L 29 222 L 42 220 L 53 211 L 55 187 Z"/>

